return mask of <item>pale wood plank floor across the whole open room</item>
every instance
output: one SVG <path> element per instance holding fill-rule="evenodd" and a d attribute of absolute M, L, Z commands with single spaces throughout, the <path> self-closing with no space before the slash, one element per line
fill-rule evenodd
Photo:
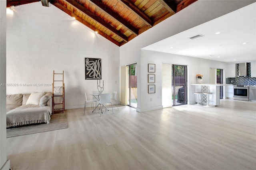
<path fill-rule="evenodd" d="M 256 103 L 68 110 L 69 127 L 7 138 L 13 170 L 255 170 Z"/>

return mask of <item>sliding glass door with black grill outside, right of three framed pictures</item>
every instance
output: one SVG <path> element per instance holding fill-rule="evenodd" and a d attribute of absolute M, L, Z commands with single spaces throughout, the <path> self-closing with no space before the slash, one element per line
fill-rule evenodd
<path fill-rule="evenodd" d="M 172 105 L 187 104 L 187 66 L 172 65 Z"/>

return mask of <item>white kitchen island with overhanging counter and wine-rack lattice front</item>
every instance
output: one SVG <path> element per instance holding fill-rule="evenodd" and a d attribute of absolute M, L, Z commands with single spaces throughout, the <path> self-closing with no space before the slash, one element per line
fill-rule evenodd
<path fill-rule="evenodd" d="M 220 105 L 220 86 L 225 86 L 226 84 L 191 84 L 195 86 L 195 92 L 201 93 L 212 93 L 210 95 L 209 105 L 219 106 Z M 197 95 L 195 95 L 195 101 L 197 101 Z M 207 103 L 207 95 L 199 95 L 199 103 Z"/>

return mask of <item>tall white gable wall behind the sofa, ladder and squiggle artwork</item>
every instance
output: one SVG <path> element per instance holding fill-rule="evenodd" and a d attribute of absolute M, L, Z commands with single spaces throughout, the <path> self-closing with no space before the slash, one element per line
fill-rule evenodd
<path fill-rule="evenodd" d="M 84 92 L 97 91 L 96 80 L 85 80 L 84 58 L 102 59 L 104 92 L 120 91 L 119 47 L 70 18 L 52 4 L 21 5 L 7 14 L 7 94 L 52 91 L 53 70 L 64 70 L 66 109 L 84 107 Z M 91 98 L 88 95 L 88 98 Z"/>

